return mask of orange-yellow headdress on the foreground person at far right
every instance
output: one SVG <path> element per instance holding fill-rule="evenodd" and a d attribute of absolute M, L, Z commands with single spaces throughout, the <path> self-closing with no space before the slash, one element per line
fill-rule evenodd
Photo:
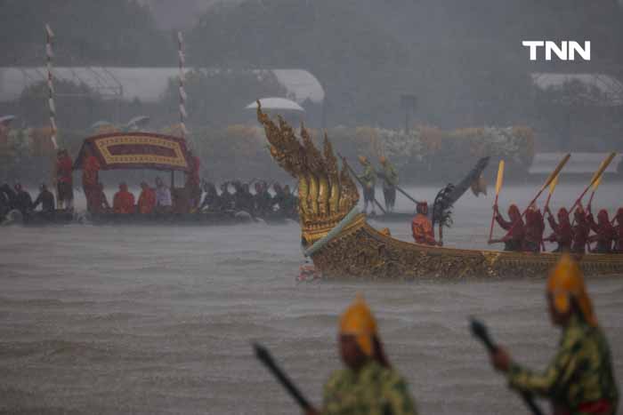
<path fill-rule="evenodd" d="M 593 304 L 588 297 L 587 287 L 582 277 L 582 270 L 569 255 L 563 255 L 550 272 L 547 292 L 552 295 L 554 308 L 559 313 L 569 311 L 570 299 L 573 298 L 578 302 L 579 310 L 587 323 L 592 326 L 597 325 Z"/>

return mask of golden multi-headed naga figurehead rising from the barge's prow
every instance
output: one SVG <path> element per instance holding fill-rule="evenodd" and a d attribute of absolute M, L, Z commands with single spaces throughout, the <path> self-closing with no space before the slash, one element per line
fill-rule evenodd
<path fill-rule="evenodd" d="M 300 139 L 281 117 L 273 121 L 257 101 L 257 120 L 263 125 L 271 156 L 298 180 L 298 213 L 303 245 L 311 245 L 357 206 L 359 192 L 343 161 L 340 171 L 327 133 L 320 151 L 301 124 Z"/>

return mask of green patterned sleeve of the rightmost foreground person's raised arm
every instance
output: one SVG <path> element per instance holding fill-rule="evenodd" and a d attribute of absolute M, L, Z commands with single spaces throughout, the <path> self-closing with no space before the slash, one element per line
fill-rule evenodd
<path fill-rule="evenodd" d="M 580 364 L 581 341 L 578 333 L 567 333 L 552 362 L 543 373 L 535 373 L 517 364 L 508 371 L 509 386 L 536 395 L 551 395 L 554 390 L 567 385 Z"/>

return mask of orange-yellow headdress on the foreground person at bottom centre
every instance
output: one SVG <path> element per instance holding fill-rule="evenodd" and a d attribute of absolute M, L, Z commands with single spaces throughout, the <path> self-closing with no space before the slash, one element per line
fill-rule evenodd
<path fill-rule="evenodd" d="M 354 336 L 361 351 L 372 356 L 372 336 L 376 335 L 376 320 L 368 304 L 360 296 L 357 296 L 340 317 L 340 334 Z"/>

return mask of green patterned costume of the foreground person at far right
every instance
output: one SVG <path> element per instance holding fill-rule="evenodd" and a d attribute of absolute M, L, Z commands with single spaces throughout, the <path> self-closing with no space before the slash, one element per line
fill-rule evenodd
<path fill-rule="evenodd" d="M 599 327 L 578 315 L 572 316 L 563 329 L 558 353 L 545 372 L 532 373 L 513 364 L 508 380 L 510 387 L 545 396 L 570 414 L 617 411 L 619 392 L 608 342 Z M 604 402 L 609 403 L 611 411 L 595 411 Z"/>

